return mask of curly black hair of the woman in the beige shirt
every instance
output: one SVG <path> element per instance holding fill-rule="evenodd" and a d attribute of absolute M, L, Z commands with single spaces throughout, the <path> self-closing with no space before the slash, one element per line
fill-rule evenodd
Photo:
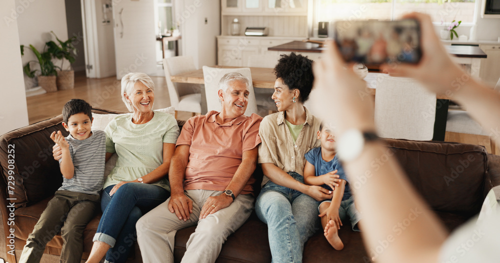
<path fill-rule="evenodd" d="M 307 56 L 291 52 L 281 55 L 274 67 L 276 78 L 281 78 L 290 90 L 298 89 L 298 101 L 304 103 L 311 93 L 314 75 L 312 74 L 312 60 Z"/>

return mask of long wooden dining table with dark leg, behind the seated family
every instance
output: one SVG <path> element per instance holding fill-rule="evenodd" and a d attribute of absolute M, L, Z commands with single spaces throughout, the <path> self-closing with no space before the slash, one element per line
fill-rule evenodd
<path fill-rule="evenodd" d="M 217 68 L 237 68 L 231 66 L 213 66 Z M 276 81 L 276 76 L 273 73 L 272 68 L 262 68 L 262 67 L 250 67 L 250 73 L 252 78 L 252 85 L 255 88 L 267 88 L 274 89 L 274 82 Z M 366 81 L 365 92 L 366 95 L 375 95 L 376 90 L 376 78 L 377 72 L 368 72 L 364 80 Z M 204 84 L 203 80 L 203 70 L 197 69 L 194 71 L 184 72 L 178 75 L 170 76 L 172 82 L 179 83 L 193 83 L 193 84 Z M 206 98 L 204 96 L 204 90 L 201 96 L 201 108 L 205 109 L 202 114 L 206 113 Z M 446 129 L 446 119 L 448 115 L 448 104 L 449 97 L 445 95 L 436 95 L 436 115 L 434 121 L 434 141 L 443 141 L 444 132 Z"/>

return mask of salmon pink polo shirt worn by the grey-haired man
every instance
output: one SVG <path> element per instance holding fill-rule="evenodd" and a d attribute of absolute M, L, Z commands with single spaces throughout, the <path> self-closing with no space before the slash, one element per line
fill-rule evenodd
<path fill-rule="evenodd" d="M 197 115 L 182 126 L 178 145 L 189 145 L 184 190 L 224 191 L 241 164 L 244 151 L 260 143 L 258 128 L 262 117 L 241 115 L 220 124 L 217 111 Z M 241 194 L 251 194 L 255 179 L 251 177 Z"/>

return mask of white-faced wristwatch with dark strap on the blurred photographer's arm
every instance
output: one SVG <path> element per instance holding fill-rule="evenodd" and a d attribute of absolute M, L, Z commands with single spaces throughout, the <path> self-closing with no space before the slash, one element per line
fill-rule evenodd
<path fill-rule="evenodd" d="M 367 142 L 377 141 L 380 138 L 373 131 L 350 129 L 345 131 L 337 141 L 337 155 L 340 161 L 349 162 L 361 155 Z"/>

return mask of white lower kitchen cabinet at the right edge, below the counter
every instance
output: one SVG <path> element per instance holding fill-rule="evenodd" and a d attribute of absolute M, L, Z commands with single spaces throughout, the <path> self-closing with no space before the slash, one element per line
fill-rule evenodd
<path fill-rule="evenodd" d="M 500 45 L 481 44 L 479 48 L 487 55 L 487 58 L 481 58 L 479 77 L 494 86 L 500 78 Z"/>

